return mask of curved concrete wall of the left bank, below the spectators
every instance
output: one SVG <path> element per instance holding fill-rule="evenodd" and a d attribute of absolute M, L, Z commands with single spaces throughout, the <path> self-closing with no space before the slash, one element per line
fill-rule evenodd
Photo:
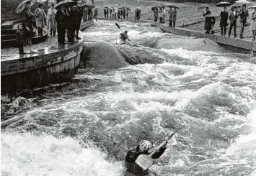
<path fill-rule="evenodd" d="M 81 24 L 85 29 L 93 22 Z M 74 77 L 79 62 L 83 41 L 66 45 L 53 45 L 37 54 L 1 56 L 1 95 L 17 95 L 30 88 L 38 88 L 51 83 L 63 83 Z"/>

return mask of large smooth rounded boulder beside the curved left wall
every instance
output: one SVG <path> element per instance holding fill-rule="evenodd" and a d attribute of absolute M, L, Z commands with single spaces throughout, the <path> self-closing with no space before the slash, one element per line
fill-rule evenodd
<path fill-rule="evenodd" d="M 128 62 L 115 46 L 108 42 L 84 42 L 81 52 L 81 68 L 94 68 L 95 71 L 104 71 L 128 66 Z"/>

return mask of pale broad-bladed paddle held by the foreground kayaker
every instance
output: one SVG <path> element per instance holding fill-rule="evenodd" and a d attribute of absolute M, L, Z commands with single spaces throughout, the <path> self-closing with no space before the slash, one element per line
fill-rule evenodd
<path fill-rule="evenodd" d="M 177 130 L 171 134 L 170 136 L 167 136 L 164 140 L 164 142 L 162 142 L 162 144 L 159 145 L 159 147 L 157 147 L 156 149 L 160 149 L 169 139 L 172 138 L 173 135 L 175 135 L 175 133 L 177 132 Z M 140 154 L 138 155 L 138 158 L 136 159 L 135 163 L 141 167 L 143 170 L 147 170 L 149 169 L 149 167 L 151 167 L 151 165 L 153 165 L 153 160 L 151 159 L 152 155 L 156 152 L 156 149 L 153 149 L 154 151 L 151 152 L 151 154 L 147 155 L 147 154 Z"/>

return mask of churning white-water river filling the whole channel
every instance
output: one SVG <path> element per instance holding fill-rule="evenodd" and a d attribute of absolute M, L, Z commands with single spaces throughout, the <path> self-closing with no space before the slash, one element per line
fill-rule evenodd
<path fill-rule="evenodd" d="M 120 23 L 161 63 L 92 73 L 45 93 L 1 97 L 1 175 L 122 175 L 141 139 L 162 142 L 158 175 L 256 175 L 256 58 L 211 41 Z M 97 22 L 84 40 L 114 45 L 114 22 Z M 99 51 L 100 52 L 100 51 Z"/>

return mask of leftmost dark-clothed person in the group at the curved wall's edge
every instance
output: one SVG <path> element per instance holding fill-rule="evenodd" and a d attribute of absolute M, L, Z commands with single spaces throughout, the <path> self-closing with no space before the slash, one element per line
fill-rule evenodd
<path fill-rule="evenodd" d="M 65 43 L 67 19 L 68 19 L 68 14 L 66 12 L 65 6 L 61 6 L 61 9 L 58 9 L 55 16 L 55 20 L 57 22 L 59 45 L 63 45 Z"/>

